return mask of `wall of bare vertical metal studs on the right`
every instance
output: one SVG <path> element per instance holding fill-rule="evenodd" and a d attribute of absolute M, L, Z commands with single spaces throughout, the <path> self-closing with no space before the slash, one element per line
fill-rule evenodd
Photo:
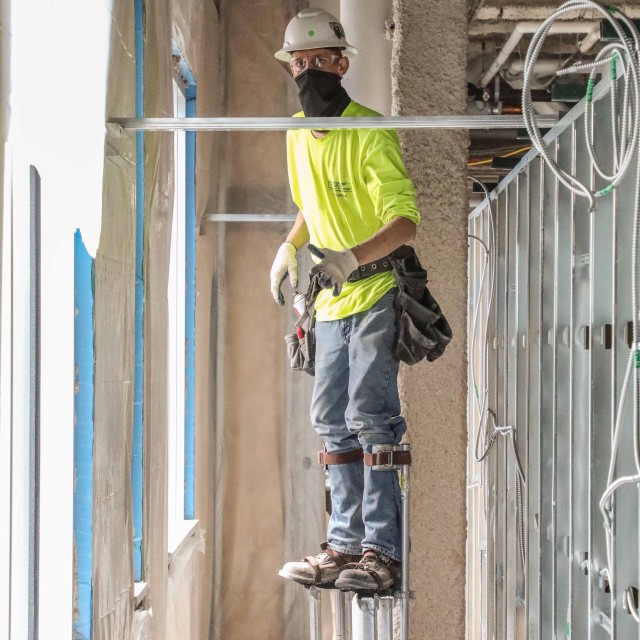
<path fill-rule="evenodd" d="M 594 101 L 594 147 L 613 158 L 603 83 Z M 582 104 L 546 140 L 600 188 Z M 635 175 L 591 212 L 532 151 L 469 217 L 470 640 L 640 635 L 637 485 L 614 494 L 612 575 L 599 508 L 632 346 Z M 627 395 L 614 480 L 636 473 Z"/>

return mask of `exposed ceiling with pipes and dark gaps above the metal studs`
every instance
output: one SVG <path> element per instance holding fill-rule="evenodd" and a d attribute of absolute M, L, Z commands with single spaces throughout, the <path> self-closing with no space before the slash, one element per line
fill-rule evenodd
<path fill-rule="evenodd" d="M 469 115 L 521 112 L 522 68 L 535 23 L 540 24 L 561 4 L 541 0 L 520 0 L 517 4 L 508 0 L 468 0 Z M 612 0 L 607 5 L 618 7 L 629 18 L 640 19 L 640 0 Z M 584 96 L 586 75 L 572 74 L 559 78 L 555 71 L 578 61 L 593 60 L 603 46 L 597 12 L 575 11 L 567 14 L 567 18 L 562 21 L 563 26 L 566 24 L 566 33 L 546 38 L 536 65 L 532 97 L 540 114 L 562 116 Z M 500 61 L 498 56 L 501 52 L 504 57 L 505 45 L 510 53 L 495 71 L 494 62 L 496 59 Z M 488 186 L 495 185 L 530 148 L 524 131 L 478 130 L 471 131 L 470 137 L 469 175 Z M 478 189 L 475 186 L 474 192 L 470 193 L 471 207 L 480 201 Z"/>

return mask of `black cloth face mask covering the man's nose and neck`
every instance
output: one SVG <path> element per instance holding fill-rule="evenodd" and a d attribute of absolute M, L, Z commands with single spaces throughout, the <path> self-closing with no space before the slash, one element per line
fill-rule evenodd
<path fill-rule="evenodd" d="M 339 116 L 351 102 L 342 78 L 319 69 L 306 69 L 295 78 L 302 111 L 307 118 Z"/>

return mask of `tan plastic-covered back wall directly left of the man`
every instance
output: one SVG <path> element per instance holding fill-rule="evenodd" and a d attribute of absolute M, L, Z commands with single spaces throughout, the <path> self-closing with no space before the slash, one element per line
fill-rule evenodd
<path fill-rule="evenodd" d="M 221 3 L 225 114 L 299 110 L 288 70 L 273 58 L 300 2 Z M 293 213 L 284 133 L 226 135 L 222 213 Z M 309 425 L 311 379 L 286 373 L 283 336 L 293 312 L 269 292 L 269 270 L 290 224 L 217 223 L 219 405 L 212 638 L 308 633 L 304 590 L 279 578 L 285 560 L 308 555 L 324 530 L 322 470 Z M 300 377 L 302 375 L 302 377 Z M 288 391 L 286 391 L 288 389 Z M 306 459 L 306 461 L 305 461 Z"/>

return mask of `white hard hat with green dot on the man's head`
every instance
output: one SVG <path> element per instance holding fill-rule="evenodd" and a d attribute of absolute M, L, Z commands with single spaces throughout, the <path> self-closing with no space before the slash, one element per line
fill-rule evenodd
<path fill-rule="evenodd" d="M 274 54 L 278 60 L 289 62 L 292 51 L 306 49 L 343 49 L 345 56 L 355 56 L 344 35 L 344 29 L 335 16 L 322 9 L 303 9 L 292 18 L 284 32 L 284 44 Z"/>

